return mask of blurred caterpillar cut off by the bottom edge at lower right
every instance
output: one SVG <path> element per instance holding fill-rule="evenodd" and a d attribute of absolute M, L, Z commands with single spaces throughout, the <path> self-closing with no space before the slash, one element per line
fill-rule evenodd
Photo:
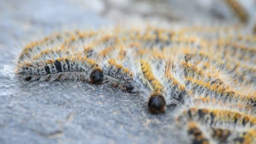
<path fill-rule="evenodd" d="M 255 128 L 242 128 L 233 125 L 207 126 L 197 121 L 187 121 L 183 136 L 187 135 L 192 144 L 253 144 L 255 143 Z M 187 131 L 185 133 L 184 131 Z"/>

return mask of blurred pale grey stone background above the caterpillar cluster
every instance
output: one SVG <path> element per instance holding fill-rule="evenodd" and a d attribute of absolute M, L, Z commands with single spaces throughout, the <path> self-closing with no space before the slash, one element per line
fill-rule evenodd
<path fill-rule="evenodd" d="M 99 27 L 120 21 L 239 22 L 228 0 L 1 0 L 0 46 L 11 38 L 32 39 L 53 29 Z M 256 0 L 236 0 L 256 16 Z M 29 34 L 29 35 L 27 35 Z M 31 36 L 31 37 L 30 37 Z M 18 38 L 19 37 L 19 38 Z"/>

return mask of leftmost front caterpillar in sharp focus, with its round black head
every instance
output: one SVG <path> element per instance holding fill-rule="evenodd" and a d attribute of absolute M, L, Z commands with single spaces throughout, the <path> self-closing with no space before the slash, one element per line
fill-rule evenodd
<path fill-rule="evenodd" d="M 19 64 L 17 74 L 32 81 L 81 80 L 95 84 L 101 83 L 103 76 L 102 69 L 95 61 L 73 56 L 25 61 Z"/>

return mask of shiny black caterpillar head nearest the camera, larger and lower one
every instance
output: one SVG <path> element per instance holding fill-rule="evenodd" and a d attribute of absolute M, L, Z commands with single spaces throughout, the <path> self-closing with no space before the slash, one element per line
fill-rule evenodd
<path fill-rule="evenodd" d="M 165 99 L 161 95 L 151 96 L 147 105 L 152 113 L 157 114 L 165 111 Z"/>

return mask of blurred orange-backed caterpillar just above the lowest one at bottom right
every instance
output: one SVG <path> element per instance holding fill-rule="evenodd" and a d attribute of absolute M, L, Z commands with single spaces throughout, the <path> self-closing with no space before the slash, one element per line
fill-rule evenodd
<path fill-rule="evenodd" d="M 211 104 L 209 104 L 211 106 Z M 216 104 L 217 105 L 217 104 Z M 242 104 L 243 105 L 243 104 Z M 241 106 L 242 106 L 241 105 Z M 225 105 L 223 105 L 225 106 Z M 184 109 L 180 115 L 177 117 L 179 123 L 184 123 L 187 120 L 195 120 L 200 123 L 209 123 L 209 125 L 214 126 L 218 124 L 232 123 L 241 126 L 254 126 L 255 125 L 255 115 L 246 114 L 245 112 L 239 112 L 235 109 L 221 107 L 189 107 Z M 241 107 L 240 106 L 240 107 Z M 241 107 L 240 109 L 243 109 Z"/>

